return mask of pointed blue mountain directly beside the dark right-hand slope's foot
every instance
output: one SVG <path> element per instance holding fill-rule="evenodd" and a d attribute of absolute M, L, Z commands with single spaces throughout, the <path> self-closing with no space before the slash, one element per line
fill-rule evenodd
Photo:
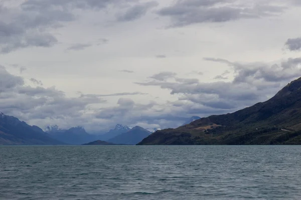
<path fill-rule="evenodd" d="M 148 130 L 140 126 L 135 126 L 127 132 L 121 133 L 120 135 L 109 139 L 108 142 L 115 144 L 136 144 L 149 134 L 151 134 L 151 132 Z"/>

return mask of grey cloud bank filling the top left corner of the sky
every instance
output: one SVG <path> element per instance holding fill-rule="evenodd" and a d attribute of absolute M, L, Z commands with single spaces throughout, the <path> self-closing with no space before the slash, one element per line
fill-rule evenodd
<path fill-rule="evenodd" d="M 22 2 L 22 1 L 20 1 Z M 58 43 L 54 28 L 76 20 L 75 9 L 104 9 L 136 0 L 25 0 L 0 6 L 0 53 L 30 46 L 51 47 Z M 107 40 L 100 40 L 98 44 Z"/>

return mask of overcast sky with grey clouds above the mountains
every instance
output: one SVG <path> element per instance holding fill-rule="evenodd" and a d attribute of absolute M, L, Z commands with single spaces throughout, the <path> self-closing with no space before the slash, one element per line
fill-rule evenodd
<path fill-rule="evenodd" d="M 45 128 L 181 125 L 301 76 L 299 0 L 0 0 L 0 111 Z"/>

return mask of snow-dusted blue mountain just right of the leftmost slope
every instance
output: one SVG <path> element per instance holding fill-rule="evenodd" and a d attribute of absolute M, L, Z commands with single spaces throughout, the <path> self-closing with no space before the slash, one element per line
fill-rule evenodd
<path fill-rule="evenodd" d="M 53 138 L 68 144 L 83 144 L 97 139 L 97 135 L 89 134 L 81 127 L 60 129 L 57 125 L 46 128 L 46 132 Z"/>

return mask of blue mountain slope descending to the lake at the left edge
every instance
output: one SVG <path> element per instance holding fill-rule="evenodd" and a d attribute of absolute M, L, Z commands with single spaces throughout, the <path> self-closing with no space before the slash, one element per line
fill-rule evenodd
<path fill-rule="evenodd" d="M 0 112 L 0 145 L 56 145 L 64 144 L 38 126 L 28 125 L 14 116 Z"/>

